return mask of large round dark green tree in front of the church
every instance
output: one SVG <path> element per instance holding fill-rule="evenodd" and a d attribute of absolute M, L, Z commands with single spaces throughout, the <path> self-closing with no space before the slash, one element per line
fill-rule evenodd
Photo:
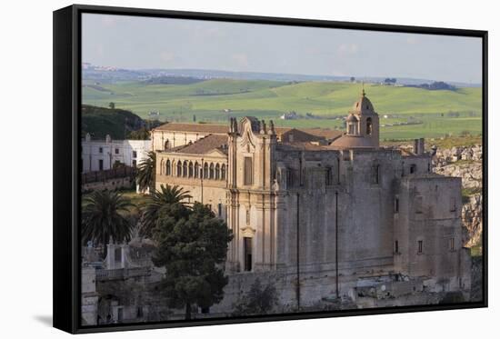
<path fill-rule="evenodd" d="M 159 210 L 152 259 L 165 267 L 159 286 L 169 307 L 185 307 L 189 319 L 192 304 L 208 308 L 222 300 L 227 277 L 221 264 L 232 237 L 225 222 L 203 204 L 188 208 L 175 203 Z"/>

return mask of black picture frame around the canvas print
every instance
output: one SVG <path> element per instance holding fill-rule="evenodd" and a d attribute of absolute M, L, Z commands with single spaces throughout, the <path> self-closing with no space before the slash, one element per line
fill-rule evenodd
<path fill-rule="evenodd" d="M 78 224 L 80 220 L 80 106 L 81 98 L 81 15 L 140 15 L 252 24 L 314 26 L 379 32 L 418 33 L 430 35 L 460 35 L 479 37 L 483 41 L 483 293 L 482 302 L 387 307 L 376 309 L 274 314 L 234 318 L 195 319 L 146 324 L 85 326 L 80 319 L 80 253 Z M 395 314 L 422 311 L 487 307 L 487 31 L 406 25 L 379 25 L 335 22 L 282 17 L 222 15 L 179 12 L 144 8 L 124 8 L 95 5 L 71 5 L 54 12 L 54 326 L 72 334 L 155 329 L 210 324 L 257 323 L 277 320 L 297 320 L 365 314 Z"/>

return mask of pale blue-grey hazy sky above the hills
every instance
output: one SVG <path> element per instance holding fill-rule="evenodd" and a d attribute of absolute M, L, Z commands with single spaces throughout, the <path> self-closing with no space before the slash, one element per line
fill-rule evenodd
<path fill-rule="evenodd" d="M 93 65 L 481 83 L 476 37 L 94 14 L 82 27 Z"/>

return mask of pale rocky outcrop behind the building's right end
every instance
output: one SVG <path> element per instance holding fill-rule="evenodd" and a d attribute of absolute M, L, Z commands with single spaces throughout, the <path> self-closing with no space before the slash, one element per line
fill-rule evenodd
<path fill-rule="evenodd" d="M 483 234 L 483 147 L 481 145 L 437 150 L 434 172 L 462 178 L 465 246 L 480 244 Z"/>

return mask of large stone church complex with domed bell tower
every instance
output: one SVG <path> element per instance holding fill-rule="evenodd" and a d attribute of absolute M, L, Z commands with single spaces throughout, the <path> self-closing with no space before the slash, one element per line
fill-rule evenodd
<path fill-rule="evenodd" d="M 232 229 L 228 291 L 260 275 L 285 304 L 354 300 L 366 288 L 466 297 L 461 178 L 433 173 L 423 139 L 411 152 L 381 147 L 365 93 L 345 125 L 340 133 L 254 117 L 166 124 L 153 131 L 156 188 L 184 187 Z"/>

